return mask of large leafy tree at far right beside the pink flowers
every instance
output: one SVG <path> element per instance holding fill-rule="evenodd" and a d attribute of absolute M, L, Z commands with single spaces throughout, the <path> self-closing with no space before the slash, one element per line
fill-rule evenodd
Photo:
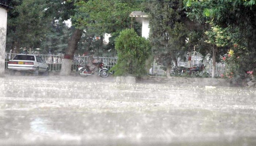
<path fill-rule="evenodd" d="M 212 35 L 215 41 L 210 41 L 214 46 L 218 46 L 218 37 L 223 31 L 225 36 L 230 39 L 222 39 L 221 46 L 224 52 L 233 50 L 240 55 L 239 77 L 242 77 L 246 70 L 253 70 L 256 66 L 256 60 L 252 56 L 256 55 L 256 5 L 255 0 L 208 0 L 208 1 L 192 1 L 185 0 L 188 16 L 192 20 L 207 22 L 212 28 L 219 28 Z M 212 31 L 213 32 L 213 31 Z M 211 38 L 208 39 L 208 41 Z M 234 47 L 237 46 L 237 47 Z M 224 53 L 222 52 L 224 55 Z M 250 54 L 250 55 L 248 55 Z M 242 63 L 246 62 L 246 64 Z M 237 66 L 237 65 L 236 65 Z"/>

